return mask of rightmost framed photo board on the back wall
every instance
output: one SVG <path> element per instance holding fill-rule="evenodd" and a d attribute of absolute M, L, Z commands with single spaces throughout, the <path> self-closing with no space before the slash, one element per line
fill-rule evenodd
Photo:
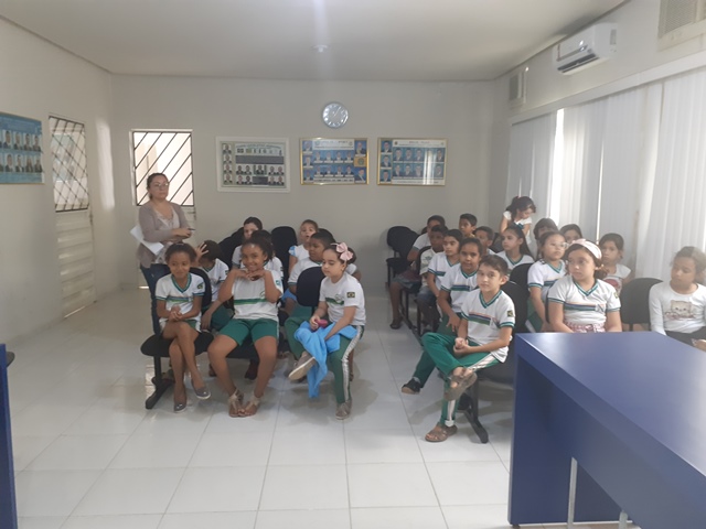
<path fill-rule="evenodd" d="M 446 185 L 447 140 L 379 138 L 378 185 Z"/>

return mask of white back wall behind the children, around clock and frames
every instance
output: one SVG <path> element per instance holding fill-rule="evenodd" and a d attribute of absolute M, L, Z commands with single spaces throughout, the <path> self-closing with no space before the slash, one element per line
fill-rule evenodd
<path fill-rule="evenodd" d="M 471 212 L 488 215 L 489 127 L 492 83 L 313 83 L 115 76 L 114 160 L 118 209 L 120 279 L 135 283 L 135 241 L 127 235 L 136 222 L 130 181 L 130 129 L 192 129 L 197 239 L 221 239 L 245 217 L 260 217 L 266 228 L 312 217 L 352 246 L 359 255 L 363 284 L 382 293 L 384 236 L 389 226 L 424 226 L 431 214 L 456 225 Z M 340 131 L 328 129 L 321 110 L 343 102 L 351 117 Z M 289 138 L 295 175 L 289 194 L 218 193 L 218 136 Z M 381 187 L 299 184 L 300 138 L 368 138 L 370 172 L 376 173 L 377 138 L 447 138 L 449 159 L 445 187 Z"/>

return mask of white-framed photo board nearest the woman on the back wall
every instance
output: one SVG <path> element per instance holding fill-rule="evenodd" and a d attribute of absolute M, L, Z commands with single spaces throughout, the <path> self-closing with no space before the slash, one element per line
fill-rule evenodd
<path fill-rule="evenodd" d="M 289 193 L 287 138 L 216 138 L 218 191 Z"/>

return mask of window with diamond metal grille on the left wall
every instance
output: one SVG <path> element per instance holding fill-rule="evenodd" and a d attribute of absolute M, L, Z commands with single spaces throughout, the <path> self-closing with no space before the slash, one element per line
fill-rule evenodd
<path fill-rule="evenodd" d="M 83 123 L 50 116 L 52 177 L 56 212 L 88 209 L 86 129 Z"/>

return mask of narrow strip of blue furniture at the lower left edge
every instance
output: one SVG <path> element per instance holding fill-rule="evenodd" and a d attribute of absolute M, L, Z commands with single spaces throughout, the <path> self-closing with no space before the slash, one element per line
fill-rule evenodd
<path fill-rule="evenodd" d="M 12 463 L 12 432 L 10 431 L 10 395 L 8 391 L 8 365 L 10 356 L 0 344 L 0 527 L 18 528 L 14 500 L 14 466 Z"/>

